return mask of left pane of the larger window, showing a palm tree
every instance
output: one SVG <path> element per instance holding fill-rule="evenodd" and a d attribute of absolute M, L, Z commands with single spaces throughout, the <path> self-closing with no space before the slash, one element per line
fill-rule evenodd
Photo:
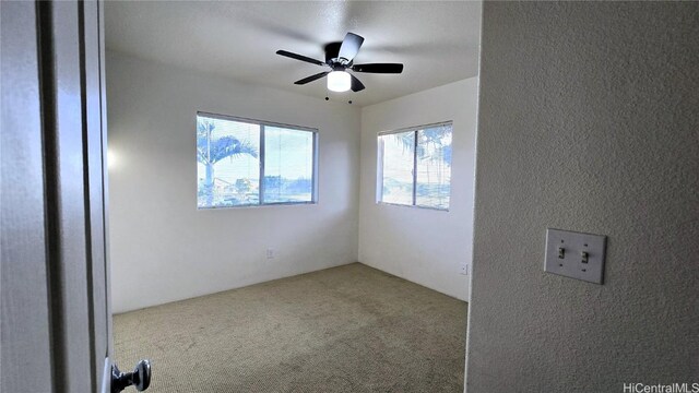
<path fill-rule="evenodd" d="M 260 126 L 197 116 L 198 206 L 259 203 Z"/>

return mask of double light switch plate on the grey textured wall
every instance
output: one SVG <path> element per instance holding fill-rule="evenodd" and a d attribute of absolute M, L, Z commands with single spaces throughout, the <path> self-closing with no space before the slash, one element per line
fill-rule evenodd
<path fill-rule="evenodd" d="M 546 229 L 544 271 L 602 284 L 606 239 L 602 235 Z"/>

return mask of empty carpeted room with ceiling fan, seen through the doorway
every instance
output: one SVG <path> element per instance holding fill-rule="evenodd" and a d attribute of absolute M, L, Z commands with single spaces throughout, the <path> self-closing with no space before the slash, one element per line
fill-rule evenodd
<path fill-rule="evenodd" d="M 481 3 L 105 21 L 117 365 L 156 392 L 462 390 Z"/>

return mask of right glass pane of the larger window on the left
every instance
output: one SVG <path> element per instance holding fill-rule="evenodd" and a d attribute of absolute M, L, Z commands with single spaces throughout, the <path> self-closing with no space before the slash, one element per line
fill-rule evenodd
<path fill-rule="evenodd" d="M 264 203 L 312 202 L 313 133 L 264 128 Z"/>

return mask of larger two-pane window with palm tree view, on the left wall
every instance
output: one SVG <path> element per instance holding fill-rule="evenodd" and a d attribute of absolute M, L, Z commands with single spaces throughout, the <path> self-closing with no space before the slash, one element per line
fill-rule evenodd
<path fill-rule="evenodd" d="M 197 206 L 315 203 L 317 134 L 198 112 Z"/>

